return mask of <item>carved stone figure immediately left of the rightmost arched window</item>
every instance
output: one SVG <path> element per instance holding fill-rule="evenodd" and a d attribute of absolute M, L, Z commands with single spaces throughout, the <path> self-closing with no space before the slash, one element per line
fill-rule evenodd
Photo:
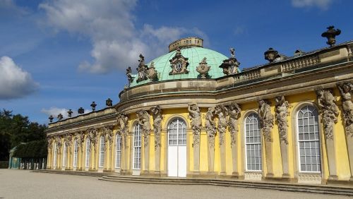
<path fill-rule="evenodd" d="M 276 102 L 276 119 L 278 122 L 278 130 L 280 131 L 280 141 L 288 144 L 287 140 L 287 131 L 288 131 L 288 122 L 287 116 L 289 115 L 289 103 L 285 100 L 285 96 L 277 96 L 275 98 Z"/>

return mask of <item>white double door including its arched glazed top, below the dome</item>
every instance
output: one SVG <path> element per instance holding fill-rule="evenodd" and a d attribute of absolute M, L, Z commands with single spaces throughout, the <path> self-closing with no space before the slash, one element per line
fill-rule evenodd
<path fill-rule="evenodd" d="M 186 177 L 186 123 L 182 119 L 168 126 L 168 176 Z"/>

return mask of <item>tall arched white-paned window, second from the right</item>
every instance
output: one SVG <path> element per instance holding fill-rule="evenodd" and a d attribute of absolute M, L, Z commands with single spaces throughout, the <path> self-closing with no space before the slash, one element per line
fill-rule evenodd
<path fill-rule="evenodd" d="M 246 171 L 262 170 L 261 130 L 258 114 L 245 119 Z"/>

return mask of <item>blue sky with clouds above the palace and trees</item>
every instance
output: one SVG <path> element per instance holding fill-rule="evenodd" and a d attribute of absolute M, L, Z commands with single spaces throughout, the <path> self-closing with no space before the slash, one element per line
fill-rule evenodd
<path fill-rule="evenodd" d="M 0 108 L 47 123 L 66 109 L 119 102 L 125 68 L 167 53 L 168 44 L 199 36 L 241 68 L 266 63 L 268 47 L 292 56 L 353 40 L 353 1 L 0 0 Z M 66 115 L 66 113 L 65 113 Z"/>

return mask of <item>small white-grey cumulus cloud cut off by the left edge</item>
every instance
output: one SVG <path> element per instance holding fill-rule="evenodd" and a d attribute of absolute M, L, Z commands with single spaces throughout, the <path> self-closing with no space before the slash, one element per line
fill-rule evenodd
<path fill-rule="evenodd" d="M 24 97 L 37 88 L 38 84 L 32 80 L 30 73 L 23 71 L 10 57 L 0 58 L 0 100 Z"/>

